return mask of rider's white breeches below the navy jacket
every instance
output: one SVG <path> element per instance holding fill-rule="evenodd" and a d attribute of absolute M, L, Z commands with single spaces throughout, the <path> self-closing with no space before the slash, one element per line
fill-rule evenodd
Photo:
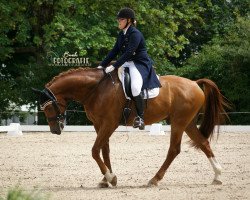
<path fill-rule="evenodd" d="M 141 88 L 143 85 L 142 76 L 133 61 L 125 62 L 122 66 L 129 68 L 129 73 L 131 77 L 131 91 L 132 95 L 136 97 L 141 93 Z"/>

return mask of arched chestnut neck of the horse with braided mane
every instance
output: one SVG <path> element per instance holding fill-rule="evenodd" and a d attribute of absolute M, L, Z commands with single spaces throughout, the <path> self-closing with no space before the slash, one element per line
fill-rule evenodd
<path fill-rule="evenodd" d="M 83 102 L 102 76 L 101 70 L 72 73 L 56 80 L 49 89 L 59 98 Z"/>

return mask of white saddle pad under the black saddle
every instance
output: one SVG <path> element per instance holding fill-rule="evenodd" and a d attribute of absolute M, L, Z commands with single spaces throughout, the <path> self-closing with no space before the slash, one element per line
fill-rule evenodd
<path fill-rule="evenodd" d="M 122 83 L 122 88 L 124 91 L 124 94 L 126 96 L 126 99 L 130 99 L 130 97 L 127 96 L 126 92 L 125 92 L 125 86 L 124 86 L 124 67 L 119 67 L 118 68 L 118 77 Z M 159 76 L 157 76 L 157 78 L 159 79 Z M 147 96 L 147 90 L 144 90 L 144 99 L 147 99 L 147 97 L 149 99 L 152 99 L 154 97 L 157 97 L 158 94 L 160 93 L 160 88 L 153 88 L 153 89 L 149 89 L 148 90 L 148 96 Z"/>

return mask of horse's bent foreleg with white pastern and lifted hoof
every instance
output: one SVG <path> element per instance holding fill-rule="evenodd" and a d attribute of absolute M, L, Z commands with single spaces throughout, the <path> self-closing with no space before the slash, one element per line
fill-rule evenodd
<path fill-rule="evenodd" d="M 116 176 L 110 172 L 109 168 L 104 164 L 100 157 L 100 150 L 105 146 L 108 142 L 108 139 L 113 131 L 105 132 L 99 131 L 97 134 L 96 141 L 94 146 L 92 147 L 92 157 L 97 162 L 102 174 L 105 176 L 106 180 L 111 183 L 112 186 L 116 186 L 117 178 Z"/>

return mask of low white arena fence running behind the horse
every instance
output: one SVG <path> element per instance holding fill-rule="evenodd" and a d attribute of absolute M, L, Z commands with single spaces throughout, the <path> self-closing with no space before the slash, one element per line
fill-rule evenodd
<path fill-rule="evenodd" d="M 23 112 L 23 111 L 22 111 Z M 67 110 L 67 113 L 83 113 L 85 111 L 78 111 L 78 110 Z M 11 113 L 11 112 L 6 112 Z M 0 126 L 0 133 L 7 132 L 8 135 L 22 135 L 22 132 L 49 132 L 50 128 L 48 125 L 29 125 L 35 124 L 38 119 L 38 112 L 33 112 L 32 114 L 28 111 L 24 111 L 26 113 L 25 122 L 20 125 L 20 119 L 18 116 L 13 115 L 11 119 L 0 121 L 0 124 L 6 124 L 6 126 Z M 250 112 L 228 112 L 229 115 L 249 115 Z M 3 123 L 4 122 L 4 123 Z M 16 123 L 12 123 L 16 122 Z M 10 124 L 7 126 L 7 124 Z M 216 129 L 217 130 L 217 127 Z M 116 129 L 116 132 L 137 132 L 138 129 L 134 129 L 133 127 L 126 127 L 126 126 L 119 126 Z M 68 125 L 65 121 L 65 128 L 64 132 L 95 132 L 95 129 L 91 125 L 83 126 L 83 125 Z M 141 132 L 141 131 L 140 131 Z M 170 125 L 162 125 L 160 123 L 152 124 L 151 126 L 146 126 L 145 131 L 148 132 L 150 135 L 163 135 L 165 133 L 170 132 Z M 220 126 L 221 133 L 250 133 L 250 125 L 223 125 Z"/>

